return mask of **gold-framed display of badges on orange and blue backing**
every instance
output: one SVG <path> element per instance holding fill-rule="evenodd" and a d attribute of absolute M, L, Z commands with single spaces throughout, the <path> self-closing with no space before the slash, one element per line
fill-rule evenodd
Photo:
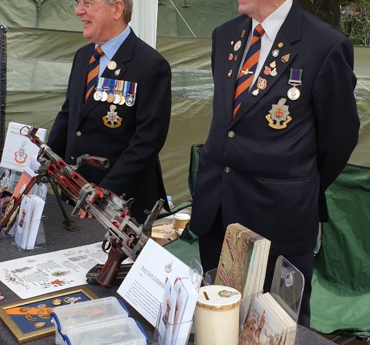
<path fill-rule="evenodd" d="M 67 297 L 77 298 L 81 302 L 99 298 L 85 287 L 66 289 L 1 306 L 0 319 L 18 344 L 47 337 L 55 334 L 50 313 L 59 301 L 61 305 L 67 304 L 64 301 Z"/>

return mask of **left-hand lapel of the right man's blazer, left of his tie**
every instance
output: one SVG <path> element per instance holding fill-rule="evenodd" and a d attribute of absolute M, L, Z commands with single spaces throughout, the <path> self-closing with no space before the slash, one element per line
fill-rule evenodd
<path fill-rule="evenodd" d="M 226 66 L 226 73 L 225 73 L 225 104 L 226 104 L 226 115 L 228 119 L 233 118 L 233 100 L 234 100 L 234 92 L 235 92 L 235 85 L 237 82 L 238 72 L 240 64 L 242 63 L 243 53 L 245 50 L 245 45 L 247 43 L 249 33 L 252 27 L 252 19 L 250 17 L 246 17 L 241 24 L 236 29 L 236 35 L 230 42 L 229 50 L 227 51 L 227 56 L 225 59 L 227 61 Z M 242 37 L 243 36 L 243 37 Z M 240 49 L 236 52 L 234 47 L 236 47 L 237 42 L 241 42 Z M 228 60 L 231 55 L 233 55 L 232 60 Z M 235 57 L 237 58 L 235 60 Z"/>

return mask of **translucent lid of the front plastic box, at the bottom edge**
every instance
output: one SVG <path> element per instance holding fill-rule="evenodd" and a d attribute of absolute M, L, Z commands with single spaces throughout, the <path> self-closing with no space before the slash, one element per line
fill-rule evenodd
<path fill-rule="evenodd" d="M 75 328 L 63 335 L 66 345 L 146 345 L 147 336 L 133 318 L 102 321 L 94 327 Z"/>

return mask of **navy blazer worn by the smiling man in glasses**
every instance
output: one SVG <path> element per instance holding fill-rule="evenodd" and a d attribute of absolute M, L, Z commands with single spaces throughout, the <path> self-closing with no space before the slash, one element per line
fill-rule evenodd
<path fill-rule="evenodd" d="M 48 145 L 67 163 L 71 156 L 88 153 L 109 158 L 110 167 L 100 170 L 84 166 L 79 173 L 115 194 L 135 198 L 132 215 L 143 221 L 144 210 L 151 210 L 158 198 L 166 200 L 158 152 L 163 147 L 171 114 L 171 69 L 153 48 L 136 37 L 132 29 L 112 58 L 115 70 L 102 77 L 137 83 L 132 107 L 117 105 L 121 126 L 104 125 L 112 103 L 94 100 L 94 91 L 84 100 L 88 63 L 95 44 L 88 44 L 75 55 L 66 99 L 49 135 Z M 120 70 L 118 76 L 114 72 Z M 81 135 L 78 136 L 77 133 Z"/>

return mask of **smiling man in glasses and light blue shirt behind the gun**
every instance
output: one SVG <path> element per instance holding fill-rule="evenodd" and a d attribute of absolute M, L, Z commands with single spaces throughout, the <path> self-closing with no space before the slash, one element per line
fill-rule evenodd
<path fill-rule="evenodd" d="M 84 166 L 79 172 L 134 198 L 132 215 L 143 221 L 144 210 L 166 199 L 158 152 L 170 122 L 171 70 L 128 26 L 132 3 L 75 0 L 83 36 L 91 43 L 75 55 L 48 145 L 69 164 L 85 153 L 108 158 L 107 170 Z"/>

